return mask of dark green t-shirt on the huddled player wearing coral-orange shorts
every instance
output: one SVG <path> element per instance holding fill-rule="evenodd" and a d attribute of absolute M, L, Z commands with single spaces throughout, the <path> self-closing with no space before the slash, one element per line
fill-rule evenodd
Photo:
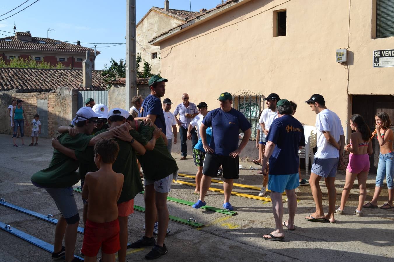
<path fill-rule="evenodd" d="M 96 133 L 96 135 L 108 131 L 106 129 Z M 130 132 L 131 133 L 131 132 Z M 141 136 L 141 135 L 140 135 Z M 133 136 L 134 137 L 134 136 Z M 123 174 L 123 188 L 118 203 L 132 200 L 139 192 L 143 191 L 141 178 L 137 165 L 136 151 L 130 142 L 115 139 L 119 145 L 119 154 L 112 165 L 113 171 Z M 147 142 L 143 145 L 146 145 Z"/>

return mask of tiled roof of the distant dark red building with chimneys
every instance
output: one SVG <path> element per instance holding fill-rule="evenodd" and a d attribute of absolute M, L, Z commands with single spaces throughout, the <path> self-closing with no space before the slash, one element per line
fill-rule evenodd
<path fill-rule="evenodd" d="M 17 35 L 24 35 L 31 37 L 28 32 L 17 32 Z M 11 41 L 6 41 L 11 39 Z M 40 43 L 44 41 L 45 44 Z M 58 44 L 56 44 L 58 43 Z M 68 53 L 86 53 L 87 50 L 94 54 L 94 49 L 87 48 L 84 46 L 78 46 L 76 44 L 70 44 L 67 42 L 61 42 L 51 38 L 32 37 L 32 41 L 26 42 L 13 37 L 0 38 L 0 50 L 4 51 L 49 51 L 49 52 L 68 52 Z M 97 51 L 97 54 L 100 52 Z"/>

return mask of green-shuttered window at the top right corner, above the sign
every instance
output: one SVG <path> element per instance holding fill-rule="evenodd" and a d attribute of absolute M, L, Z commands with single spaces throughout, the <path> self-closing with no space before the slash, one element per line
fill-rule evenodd
<path fill-rule="evenodd" d="M 394 0 L 376 0 L 376 38 L 394 37 Z"/>

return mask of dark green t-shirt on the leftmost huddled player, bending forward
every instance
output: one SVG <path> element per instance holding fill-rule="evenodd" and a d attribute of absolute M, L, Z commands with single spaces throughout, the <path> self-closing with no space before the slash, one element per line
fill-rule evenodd
<path fill-rule="evenodd" d="M 58 137 L 61 145 L 80 152 L 85 151 L 92 138 L 93 136 L 88 136 L 86 134 L 78 134 L 71 137 L 68 133 L 61 134 Z M 79 174 L 75 172 L 78 166 L 78 160 L 69 158 L 54 149 L 49 167 L 33 174 L 31 180 L 47 188 L 71 187 L 78 183 L 80 179 Z"/>

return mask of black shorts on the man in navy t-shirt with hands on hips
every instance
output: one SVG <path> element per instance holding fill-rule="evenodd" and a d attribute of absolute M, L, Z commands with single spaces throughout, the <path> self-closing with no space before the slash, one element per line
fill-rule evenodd
<path fill-rule="evenodd" d="M 217 176 L 220 165 L 223 167 L 223 178 L 238 179 L 240 177 L 239 158 L 221 156 L 217 154 L 206 154 L 204 159 L 203 174 L 206 176 Z"/>

